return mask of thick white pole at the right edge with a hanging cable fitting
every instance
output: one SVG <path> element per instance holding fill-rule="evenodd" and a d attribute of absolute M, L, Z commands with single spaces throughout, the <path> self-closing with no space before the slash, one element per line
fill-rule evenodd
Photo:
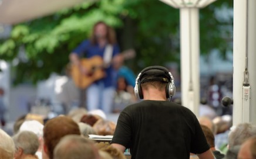
<path fill-rule="evenodd" d="M 256 123 L 255 0 L 234 0 L 233 125 Z"/>

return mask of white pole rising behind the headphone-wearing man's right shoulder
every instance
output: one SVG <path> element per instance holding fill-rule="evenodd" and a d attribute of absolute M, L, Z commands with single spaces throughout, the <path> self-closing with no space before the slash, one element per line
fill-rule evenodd
<path fill-rule="evenodd" d="M 198 8 L 180 8 L 181 102 L 199 115 Z"/>

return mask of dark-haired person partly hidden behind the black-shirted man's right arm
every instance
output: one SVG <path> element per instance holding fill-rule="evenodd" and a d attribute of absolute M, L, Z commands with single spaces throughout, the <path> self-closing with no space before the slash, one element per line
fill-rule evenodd
<path fill-rule="evenodd" d="M 220 151 L 215 149 L 213 132 L 207 126 L 201 125 L 201 127 L 204 132 L 204 136 L 206 136 L 207 143 L 210 146 L 211 151 L 213 152 L 215 158 L 216 159 L 224 158 L 224 154 L 221 154 Z"/>

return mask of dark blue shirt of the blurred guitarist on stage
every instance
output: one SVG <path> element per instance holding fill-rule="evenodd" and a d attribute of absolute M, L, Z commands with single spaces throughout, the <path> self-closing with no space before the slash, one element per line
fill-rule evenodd
<path fill-rule="evenodd" d="M 99 44 L 92 44 L 90 40 L 84 40 L 72 52 L 78 54 L 79 57 L 90 58 L 93 56 L 100 56 L 103 58 L 105 49 L 106 49 L 106 46 L 100 47 Z M 119 51 L 120 51 L 119 46 L 117 44 L 114 44 L 112 57 L 118 54 Z M 105 71 L 106 71 L 106 77 L 103 78 L 102 80 L 96 81 L 95 84 L 99 84 L 99 82 L 103 82 L 105 88 L 114 87 L 113 81 L 115 80 L 113 78 L 114 78 L 114 74 L 116 74 L 114 68 L 112 67 L 112 65 L 110 65 L 110 67 L 107 67 Z"/>

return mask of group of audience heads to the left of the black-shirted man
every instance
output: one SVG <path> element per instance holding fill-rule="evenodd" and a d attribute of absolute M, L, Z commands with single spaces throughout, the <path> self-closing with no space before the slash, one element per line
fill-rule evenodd
<path fill-rule="evenodd" d="M 0 158 L 126 158 L 109 141 L 99 143 L 89 137 L 111 136 L 115 128 L 116 124 L 106 120 L 101 110 L 87 112 L 78 108 L 52 119 L 23 115 L 16 119 L 11 136 L 0 129 Z"/>

